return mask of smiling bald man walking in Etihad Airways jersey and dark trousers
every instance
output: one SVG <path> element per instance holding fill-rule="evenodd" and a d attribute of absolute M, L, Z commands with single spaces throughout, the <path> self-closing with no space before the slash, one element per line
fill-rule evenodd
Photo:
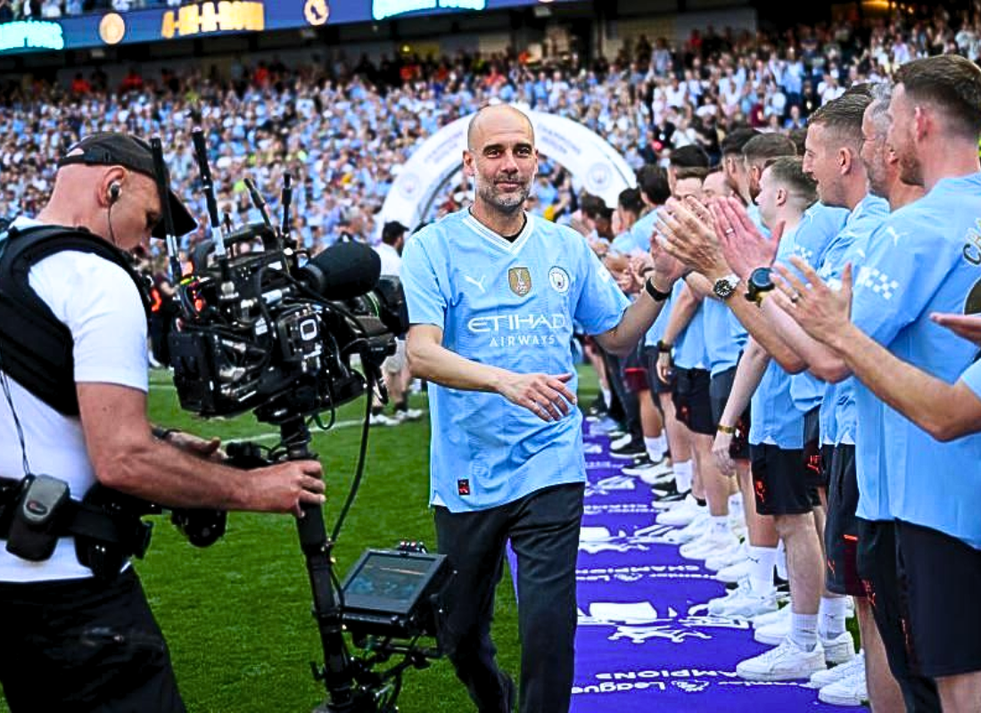
<path fill-rule="evenodd" d="M 576 553 L 586 465 L 573 324 L 624 354 L 681 268 L 656 252 L 633 304 L 572 229 L 524 211 L 538 169 L 528 117 L 475 115 L 463 152 L 476 197 L 406 245 L 409 367 L 432 382 L 431 504 L 455 570 L 440 643 L 482 713 L 511 711 L 494 661 L 494 587 L 510 539 L 518 558 L 521 710 L 563 713 L 573 681 Z"/>

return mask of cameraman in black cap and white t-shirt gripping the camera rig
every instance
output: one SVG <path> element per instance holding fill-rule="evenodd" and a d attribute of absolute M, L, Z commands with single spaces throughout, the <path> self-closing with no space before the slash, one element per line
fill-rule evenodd
<path fill-rule="evenodd" d="M 152 177 L 145 142 L 120 133 L 89 135 L 59 162 L 52 195 L 36 220 L 22 216 L 12 230 L 0 231 L 5 302 L 18 286 L 8 281 L 18 267 L 5 270 L 8 253 L 17 254 L 18 241 L 31 239 L 32 227 L 66 227 L 66 235 L 76 233 L 73 245 L 87 240 L 94 246 L 56 247 L 21 265 L 21 294 L 38 298 L 70 332 L 74 361 L 64 380 L 70 385 L 63 389 L 68 393 L 55 395 L 75 408 L 56 410 L 50 393 L 42 400 L 36 385 L 28 390 L 11 376 L 9 367 L 23 364 L 32 350 L 38 359 L 48 357 L 40 344 L 50 341 L 32 343 L 30 333 L 8 333 L 10 323 L 0 321 L 0 539 L 6 540 L 6 548 L 0 547 L 0 684 L 14 713 L 184 710 L 167 645 L 125 559 L 136 549 L 121 544 L 122 567 L 96 567 L 94 573 L 80 564 L 75 538 L 57 529 L 46 559 L 27 561 L 8 551 L 28 473 L 67 484 L 71 500 L 64 506 L 76 509 L 96 484 L 184 508 L 299 515 L 301 504 L 324 501 L 316 462 L 238 471 L 202 457 L 213 454 L 217 440 L 151 434 L 146 314 L 122 255 L 145 251 L 151 233 L 161 236 L 160 195 Z M 193 229 L 173 192 L 170 204 L 176 230 Z M 77 229 L 90 234 L 78 237 Z M 56 238 L 65 239 L 61 233 Z M 27 509 L 32 506 L 21 499 Z M 91 551 L 89 557 L 94 564 Z"/>

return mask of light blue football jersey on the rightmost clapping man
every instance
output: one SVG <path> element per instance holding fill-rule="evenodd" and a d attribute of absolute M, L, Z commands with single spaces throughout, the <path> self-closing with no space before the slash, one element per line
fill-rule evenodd
<path fill-rule="evenodd" d="M 855 280 L 852 320 L 900 359 L 954 383 L 977 347 L 929 315 L 976 310 L 979 298 L 981 174 L 972 174 L 939 181 L 876 230 Z M 856 403 L 862 397 L 856 390 Z M 873 445 L 865 428 L 859 408 L 856 455 Z M 881 436 L 874 445 L 885 484 L 870 483 L 875 472 L 856 457 L 859 516 L 903 520 L 981 548 L 981 434 L 941 443 L 885 408 Z"/>

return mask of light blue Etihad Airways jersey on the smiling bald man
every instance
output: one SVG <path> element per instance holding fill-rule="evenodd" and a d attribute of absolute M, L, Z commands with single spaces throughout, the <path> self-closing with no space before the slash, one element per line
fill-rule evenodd
<path fill-rule="evenodd" d="M 520 374 L 571 373 L 573 323 L 616 327 L 630 304 L 586 240 L 528 216 L 509 242 L 469 211 L 413 235 L 402 256 L 409 321 L 442 330 L 460 356 Z M 432 384 L 431 502 L 452 512 L 583 483 L 582 415 L 546 423 L 496 393 Z"/>

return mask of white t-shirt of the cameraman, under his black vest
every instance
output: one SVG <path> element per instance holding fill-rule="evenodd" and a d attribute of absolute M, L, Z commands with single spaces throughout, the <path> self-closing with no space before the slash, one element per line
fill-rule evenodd
<path fill-rule="evenodd" d="M 39 225 L 19 218 L 17 228 Z M 75 381 L 117 383 L 149 388 L 146 315 L 136 285 L 108 260 L 90 253 L 66 250 L 44 258 L 30 269 L 31 288 L 51 308 L 75 340 Z M 2 355 L 0 355 L 2 358 Z M 12 379 L 11 398 L 24 430 L 30 470 L 69 484 L 80 500 L 95 484 L 81 424 L 58 413 Z M 24 476 L 21 444 L 10 412 L 0 397 L 0 476 Z M 78 564 L 75 542 L 63 537 L 44 562 L 28 562 L 0 545 L 0 582 L 39 582 L 91 577 Z"/>

